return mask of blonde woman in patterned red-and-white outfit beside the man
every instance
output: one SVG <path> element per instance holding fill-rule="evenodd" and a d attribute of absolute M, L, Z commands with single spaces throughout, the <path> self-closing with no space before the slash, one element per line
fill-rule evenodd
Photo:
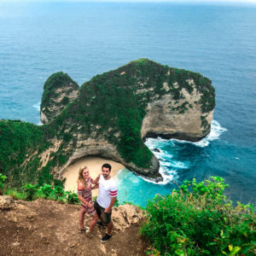
<path fill-rule="evenodd" d="M 85 230 L 84 228 L 84 214 L 88 212 L 91 216 L 90 221 L 90 229 L 86 231 L 87 236 L 92 237 L 94 227 L 96 225 L 98 216 L 93 207 L 93 203 L 91 200 L 91 189 L 96 189 L 95 186 L 91 187 L 91 183 L 97 184 L 99 181 L 100 175 L 93 180 L 90 177 L 89 169 L 87 166 L 79 169 L 79 178 L 78 178 L 78 197 L 79 201 L 81 201 L 82 209 L 79 214 L 79 226 L 80 230 Z"/>

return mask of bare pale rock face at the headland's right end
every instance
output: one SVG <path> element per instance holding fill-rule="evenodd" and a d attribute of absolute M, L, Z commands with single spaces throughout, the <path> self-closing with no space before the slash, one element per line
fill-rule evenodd
<path fill-rule="evenodd" d="M 191 94 L 188 90 L 181 90 L 182 98 L 178 101 L 172 95 L 166 95 L 148 103 L 148 113 L 141 130 L 143 138 L 160 136 L 196 142 L 207 136 L 211 130 L 213 110 L 202 112 L 202 94 L 195 88 L 193 80 L 189 82 L 193 88 Z M 167 91 L 168 88 L 166 83 Z"/>

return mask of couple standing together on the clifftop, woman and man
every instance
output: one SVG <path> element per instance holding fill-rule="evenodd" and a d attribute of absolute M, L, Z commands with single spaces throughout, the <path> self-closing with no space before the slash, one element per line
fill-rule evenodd
<path fill-rule="evenodd" d="M 80 230 L 84 228 L 84 214 L 88 212 L 91 216 L 90 229 L 86 231 L 86 235 L 93 236 L 93 230 L 96 224 L 107 226 L 107 233 L 102 237 L 102 242 L 108 241 L 112 237 L 113 222 L 111 220 L 112 207 L 117 198 L 117 185 L 110 176 L 111 166 L 104 164 L 102 166 L 102 174 L 96 179 L 90 177 L 88 167 L 79 170 L 78 178 L 78 196 L 81 201 L 82 209 L 79 213 Z M 92 186 L 92 184 L 95 184 Z M 91 189 L 99 189 L 99 194 L 93 204 L 91 198 Z M 100 218 L 101 221 L 98 221 Z"/>

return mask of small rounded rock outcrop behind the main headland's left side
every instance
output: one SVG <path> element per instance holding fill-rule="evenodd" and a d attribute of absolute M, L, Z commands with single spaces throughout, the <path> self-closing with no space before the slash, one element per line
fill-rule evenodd
<path fill-rule="evenodd" d="M 44 95 L 42 96 L 40 118 L 43 124 L 61 113 L 61 110 L 72 102 L 79 92 L 76 84 L 65 73 L 54 73 L 44 84 Z"/>

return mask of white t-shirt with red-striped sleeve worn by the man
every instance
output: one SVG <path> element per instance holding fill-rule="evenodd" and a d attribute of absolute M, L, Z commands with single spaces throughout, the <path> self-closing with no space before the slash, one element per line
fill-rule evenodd
<path fill-rule="evenodd" d="M 96 199 L 97 203 L 103 207 L 108 208 L 112 197 L 117 196 L 117 185 L 113 179 L 105 179 L 102 175 L 99 180 L 99 195 Z"/>

